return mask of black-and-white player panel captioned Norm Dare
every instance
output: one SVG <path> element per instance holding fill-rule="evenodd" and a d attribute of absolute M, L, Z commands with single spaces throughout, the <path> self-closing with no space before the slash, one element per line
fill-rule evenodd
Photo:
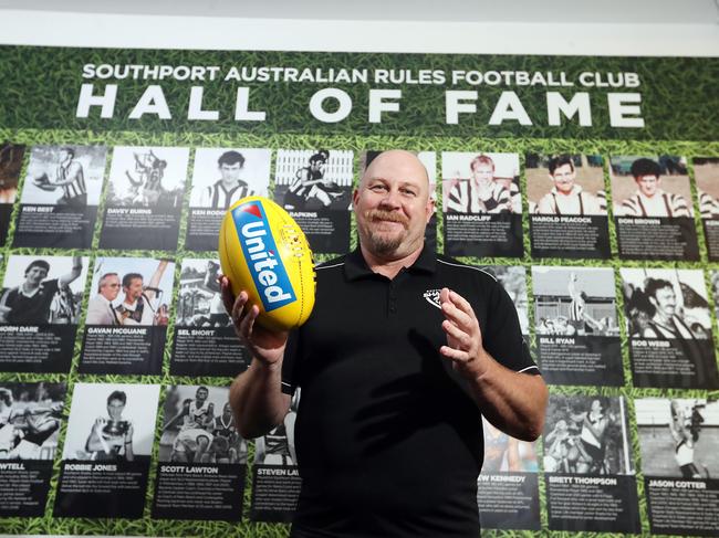
<path fill-rule="evenodd" d="M 0 371 L 67 372 L 87 257 L 13 254 L 0 289 Z"/>

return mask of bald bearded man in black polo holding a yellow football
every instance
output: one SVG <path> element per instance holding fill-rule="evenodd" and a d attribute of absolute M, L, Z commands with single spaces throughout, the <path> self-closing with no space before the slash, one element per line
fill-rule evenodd
<path fill-rule="evenodd" d="M 534 440 L 546 387 L 501 285 L 425 246 L 434 202 L 414 154 L 373 160 L 353 205 L 359 246 L 317 267 L 299 330 L 256 324 L 258 306 L 223 277 L 254 358 L 230 393 L 238 428 L 264 434 L 302 389 L 293 537 L 475 538 L 481 415 Z"/>

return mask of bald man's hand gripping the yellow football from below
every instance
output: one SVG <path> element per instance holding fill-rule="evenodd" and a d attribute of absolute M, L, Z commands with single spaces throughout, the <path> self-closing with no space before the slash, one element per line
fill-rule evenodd
<path fill-rule="evenodd" d="M 279 366 L 284 356 L 288 331 L 271 330 L 256 323 L 260 308 L 257 305 L 248 305 L 249 296 L 244 291 L 235 297 L 227 276 L 220 276 L 220 291 L 225 309 L 232 319 L 235 333 L 250 350 L 252 357 L 268 366 Z"/>

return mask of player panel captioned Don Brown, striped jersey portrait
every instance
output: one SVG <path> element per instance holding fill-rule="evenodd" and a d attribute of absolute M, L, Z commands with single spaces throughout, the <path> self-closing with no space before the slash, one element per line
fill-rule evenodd
<path fill-rule="evenodd" d="M 685 157 L 612 156 L 609 173 L 621 257 L 699 260 Z"/>

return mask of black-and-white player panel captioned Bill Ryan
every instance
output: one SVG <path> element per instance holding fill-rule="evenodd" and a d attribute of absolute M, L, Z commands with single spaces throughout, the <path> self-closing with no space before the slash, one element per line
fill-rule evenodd
<path fill-rule="evenodd" d="M 614 271 L 533 266 L 542 375 L 555 384 L 624 384 Z"/>

